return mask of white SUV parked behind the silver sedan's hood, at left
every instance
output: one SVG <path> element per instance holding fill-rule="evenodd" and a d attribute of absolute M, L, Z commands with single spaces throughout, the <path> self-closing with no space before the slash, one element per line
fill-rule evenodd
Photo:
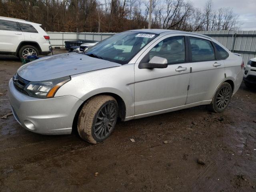
<path fill-rule="evenodd" d="M 19 58 L 30 55 L 48 55 L 50 37 L 41 24 L 26 20 L 0 17 L 0 54 Z"/>

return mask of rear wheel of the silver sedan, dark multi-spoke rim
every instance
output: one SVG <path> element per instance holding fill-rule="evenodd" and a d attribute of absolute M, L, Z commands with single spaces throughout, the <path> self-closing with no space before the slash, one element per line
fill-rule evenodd
<path fill-rule="evenodd" d="M 224 82 L 216 91 L 208 109 L 215 113 L 223 112 L 227 107 L 232 97 L 232 88 L 229 83 Z"/>

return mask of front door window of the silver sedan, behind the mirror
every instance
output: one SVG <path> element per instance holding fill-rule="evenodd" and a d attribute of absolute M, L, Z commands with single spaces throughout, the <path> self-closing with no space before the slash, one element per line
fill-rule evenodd
<path fill-rule="evenodd" d="M 185 62 L 184 36 L 174 36 L 162 40 L 146 54 L 141 62 L 147 63 L 154 56 L 166 58 L 168 64 Z"/>

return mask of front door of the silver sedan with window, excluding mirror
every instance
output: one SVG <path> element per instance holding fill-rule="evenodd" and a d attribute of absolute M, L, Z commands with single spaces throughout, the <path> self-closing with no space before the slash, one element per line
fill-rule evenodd
<path fill-rule="evenodd" d="M 164 112 L 186 103 L 190 81 L 186 52 L 184 36 L 167 35 L 154 42 L 137 60 L 134 66 L 135 115 Z M 154 56 L 166 58 L 168 67 L 138 68 L 140 62 L 149 62 Z"/>

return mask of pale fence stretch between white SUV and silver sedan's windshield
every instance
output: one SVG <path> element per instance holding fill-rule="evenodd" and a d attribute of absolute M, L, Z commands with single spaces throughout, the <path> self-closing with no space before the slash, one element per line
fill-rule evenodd
<path fill-rule="evenodd" d="M 47 32 L 52 46 L 65 46 L 65 41 L 94 40 L 101 41 L 116 33 L 70 33 L 70 32 Z"/>

